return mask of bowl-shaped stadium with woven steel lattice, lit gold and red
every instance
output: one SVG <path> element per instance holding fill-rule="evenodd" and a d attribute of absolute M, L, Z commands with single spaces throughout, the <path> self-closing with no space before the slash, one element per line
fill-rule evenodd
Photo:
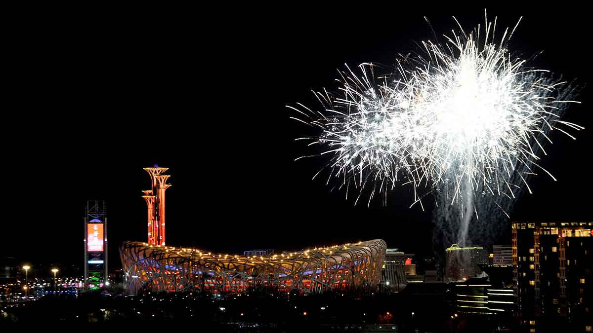
<path fill-rule="evenodd" d="M 195 248 L 124 242 L 130 292 L 241 293 L 250 287 L 321 293 L 377 286 L 387 245 L 381 239 L 263 256 L 212 254 Z"/>

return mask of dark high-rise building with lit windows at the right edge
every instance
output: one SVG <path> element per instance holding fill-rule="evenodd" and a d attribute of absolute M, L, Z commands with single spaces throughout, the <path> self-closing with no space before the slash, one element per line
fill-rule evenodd
<path fill-rule="evenodd" d="M 514 222 L 517 314 L 526 332 L 592 325 L 593 222 Z"/>

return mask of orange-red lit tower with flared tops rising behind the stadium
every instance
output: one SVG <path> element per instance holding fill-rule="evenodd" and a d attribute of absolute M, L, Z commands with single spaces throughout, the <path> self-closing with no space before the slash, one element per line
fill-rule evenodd
<path fill-rule="evenodd" d="M 165 245 L 165 190 L 171 187 L 167 184 L 170 175 L 163 175 L 168 168 L 144 168 L 150 175 L 152 190 L 143 191 L 144 200 L 148 206 L 148 244 Z"/>

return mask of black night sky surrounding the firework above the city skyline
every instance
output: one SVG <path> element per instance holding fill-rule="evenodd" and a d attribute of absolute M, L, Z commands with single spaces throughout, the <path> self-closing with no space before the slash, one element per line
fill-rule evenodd
<path fill-rule="evenodd" d="M 483 9 L 192 13 L 24 15 L 11 27 L 0 256 L 81 263 L 86 200 L 106 200 L 111 265 L 119 266 L 120 242 L 146 239 L 141 190 L 150 180 L 142 168 L 154 164 L 170 168 L 173 184 L 168 245 L 242 252 L 382 238 L 431 253 L 430 205 L 408 209 L 411 187 L 391 192 L 385 207 L 377 200 L 368 208 L 330 192 L 324 179 L 311 180 L 324 159 L 294 162 L 308 151 L 293 139 L 308 129 L 289 119 L 285 105 L 316 106 L 310 89 L 335 89 L 344 63 L 391 65 L 397 53 L 417 50 L 415 41 L 432 39 L 424 15 L 442 34 L 455 28 L 451 15 L 466 30 L 483 24 Z M 514 52 L 544 51 L 532 65 L 581 85 L 593 83 L 586 13 L 489 9 L 499 27 L 524 16 Z M 571 132 L 576 141 L 553 135 L 543 161 L 558 181 L 531 180 L 534 194 L 519 199 L 512 219 L 592 219 L 590 88 L 579 100 L 565 119 L 586 129 Z M 508 233 L 493 237 L 510 244 Z"/>

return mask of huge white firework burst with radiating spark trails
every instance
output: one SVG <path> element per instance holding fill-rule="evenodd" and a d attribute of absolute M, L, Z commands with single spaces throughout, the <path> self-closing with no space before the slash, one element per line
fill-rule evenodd
<path fill-rule="evenodd" d="M 506 48 L 517 25 L 499 41 L 495 25 L 486 19 L 482 37 L 477 28 L 453 32 L 444 44 L 422 42 L 424 56 L 401 59 L 393 75 L 377 81 L 372 64 L 360 65 L 359 74 L 346 66 L 338 95 L 314 92 L 324 110 L 291 107 L 321 129 L 299 140 L 326 148 L 329 177 L 340 178 L 346 192 L 357 188 L 356 202 L 368 185 L 371 197 L 385 196 L 400 178 L 413 185 L 412 206 L 440 192 L 466 220 L 478 214 L 476 194 L 514 198 L 528 175 L 551 176 L 537 164 L 538 152 L 545 154 L 540 140 L 551 143 L 546 133 L 573 137 L 560 126 L 584 127 L 560 120 L 572 102 L 556 98 L 565 82 L 527 68 Z"/>

